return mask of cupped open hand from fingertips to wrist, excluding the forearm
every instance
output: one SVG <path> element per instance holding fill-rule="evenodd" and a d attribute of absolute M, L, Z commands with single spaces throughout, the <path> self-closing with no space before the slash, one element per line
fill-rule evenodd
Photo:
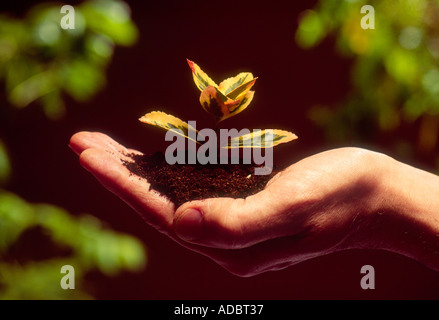
<path fill-rule="evenodd" d="M 147 224 L 241 276 L 347 248 L 355 226 L 375 210 L 370 199 L 377 186 L 368 165 L 377 154 L 363 149 L 304 159 L 246 199 L 211 198 L 176 208 L 123 165 L 127 154 L 138 151 L 98 132 L 75 134 L 70 147 L 81 165 Z"/>

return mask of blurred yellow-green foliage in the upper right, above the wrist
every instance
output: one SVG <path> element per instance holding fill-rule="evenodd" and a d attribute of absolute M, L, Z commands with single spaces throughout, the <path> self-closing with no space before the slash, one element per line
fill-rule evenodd
<path fill-rule="evenodd" d="M 374 8 L 375 29 L 361 27 L 364 5 Z M 416 151 L 439 160 L 439 1 L 320 0 L 303 12 L 296 42 L 309 49 L 327 37 L 352 60 L 346 99 L 310 112 L 328 139 L 369 141 L 418 123 Z"/>

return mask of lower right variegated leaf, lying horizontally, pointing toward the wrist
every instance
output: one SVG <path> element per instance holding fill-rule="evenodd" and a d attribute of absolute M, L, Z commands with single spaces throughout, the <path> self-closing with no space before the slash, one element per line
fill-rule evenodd
<path fill-rule="evenodd" d="M 234 137 L 230 139 L 227 145 L 221 146 L 221 148 L 272 148 L 295 139 L 297 139 L 297 136 L 289 131 L 265 129 Z"/>

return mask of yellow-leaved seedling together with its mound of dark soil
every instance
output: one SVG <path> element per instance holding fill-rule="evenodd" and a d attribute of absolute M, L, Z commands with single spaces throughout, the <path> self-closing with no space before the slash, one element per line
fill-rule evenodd
<path fill-rule="evenodd" d="M 246 198 L 263 190 L 278 171 L 273 173 L 273 147 L 297 136 L 276 129 L 217 130 L 218 123 L 250 105 L 256 78 L 242 72 L 218 85 L 197 64 L 190 60 L 188 64 L 201 91 L 201 106 L 214 118 L 215 130 L 197 131 L 196 121 L 186 123 L 161 111 L 147 113 L 139 120 L 167 130 L 165 140 L 175 141 L 164 154 L 132 154 L 127 168 L 176 206 L 212 197 Z"/>

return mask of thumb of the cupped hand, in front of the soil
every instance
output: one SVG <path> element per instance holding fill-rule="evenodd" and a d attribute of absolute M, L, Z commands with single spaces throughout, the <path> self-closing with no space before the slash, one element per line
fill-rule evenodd
<path fill-rule="evenodd" d="M 268 189 L 246 199 L 210 198 L 177 209 L 174 230 L 181 239 L 208 247 L 238 249 L 289 235 L 288 206 Z"/>

